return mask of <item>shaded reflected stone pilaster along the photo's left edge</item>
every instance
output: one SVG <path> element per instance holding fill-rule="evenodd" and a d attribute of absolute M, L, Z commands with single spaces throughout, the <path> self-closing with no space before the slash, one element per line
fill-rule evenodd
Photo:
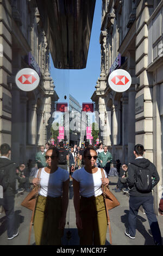
<path fill-rule="evenodd" d="M 11 82 L 12 74 L 12 37 L 11 5 L 0 1 L 0 144 L 11 146 Z"/>

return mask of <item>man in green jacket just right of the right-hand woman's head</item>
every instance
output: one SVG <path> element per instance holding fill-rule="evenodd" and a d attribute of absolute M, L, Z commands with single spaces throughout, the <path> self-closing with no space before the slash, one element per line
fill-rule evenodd
<path fill-rule="evenodd" d="M 101 167 L 105 170 L 107 174 L 109 174 L 110 163 L 112 162 L 112 155 L 108 152 L 108 147 L 104 147 L 104 151 L 99 153 L 98 162 L 101 163 Z"/>

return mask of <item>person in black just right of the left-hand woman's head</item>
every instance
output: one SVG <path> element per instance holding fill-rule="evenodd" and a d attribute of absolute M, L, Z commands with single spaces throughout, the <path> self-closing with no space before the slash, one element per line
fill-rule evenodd
<path fill-rule="evenodd" d="M 65 169 L 67 170 L 67 161 L 69 159 L 68 157 L 68 151 L 64 148 L 64 143 L 63 142 L 60 142 L 59 143 L 59 157 L 58 157 L 58 160 L 59 160 L 59 167 L 61 169 Z"/>

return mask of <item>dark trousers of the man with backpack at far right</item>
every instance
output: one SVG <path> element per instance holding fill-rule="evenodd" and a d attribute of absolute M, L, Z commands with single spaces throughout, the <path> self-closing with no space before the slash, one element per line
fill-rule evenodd
<path fill-rule="evenodd" d="M 132 197 L 129 199 L 129 234 L 135 236 L 136 234 L 136 219 L 140 206 L 142 205 L 148 218 L 149 226 L 153 235 L 155 244 L 161 245 L 161 233 L 156 215 L 153 209 L 153 197 Z"/>

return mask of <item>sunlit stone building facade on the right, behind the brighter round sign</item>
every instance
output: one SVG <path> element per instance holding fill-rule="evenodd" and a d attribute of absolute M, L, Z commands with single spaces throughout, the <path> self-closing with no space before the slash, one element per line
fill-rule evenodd
<path fill-rule="evenodd" d="M 145 157 L 160 175 L 154 188 L 157 213 L 162 184 L 162 39 L 163 1 L 103 0 L 101 75 L 91 99 L 101 119 L 101 140 L 114 160 L 133 160 L 133 148 L 144 145 Z M 129 72 L 131 87 L 116 93 L 108 84 L 110 72 Z"/>

